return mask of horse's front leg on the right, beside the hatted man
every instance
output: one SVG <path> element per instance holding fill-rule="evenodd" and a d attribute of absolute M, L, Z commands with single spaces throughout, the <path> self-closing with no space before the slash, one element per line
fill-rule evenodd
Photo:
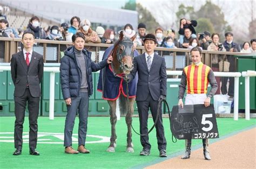
<path fill-rule="evenodd" d="M 133 103 L 134 103 L 135 98 L 129 98 L 129 102 L 126 103 L 128 105 L 128 110 L 127 114 L 125 116 L 125 121 L 127 125 L 127 147 L 126 147 L 126 152 L 134 152 L 133 150 L 133 144 L 132 144 L 132 115 L 133 115 Z"/>

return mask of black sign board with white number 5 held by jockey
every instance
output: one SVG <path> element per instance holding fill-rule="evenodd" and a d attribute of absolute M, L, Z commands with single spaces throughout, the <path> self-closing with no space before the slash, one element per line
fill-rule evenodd
<path fill-rule="evenodd" d="M 214 107 L 210 104 L 174 105 L 171 114 L 171 131 L 177 139 L 219 138 Z"/>

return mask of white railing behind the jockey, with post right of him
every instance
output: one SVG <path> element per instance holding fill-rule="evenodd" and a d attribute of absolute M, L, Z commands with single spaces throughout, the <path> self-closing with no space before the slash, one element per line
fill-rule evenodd
<path fill-rule="evenodd" d="M 182 71 L 166 71 L 167 75 L 181 75 Z M 238 120 L 238 91 L 240 72 L 213 72 L 215 76 L 234 77 L 234 120 Z"/>

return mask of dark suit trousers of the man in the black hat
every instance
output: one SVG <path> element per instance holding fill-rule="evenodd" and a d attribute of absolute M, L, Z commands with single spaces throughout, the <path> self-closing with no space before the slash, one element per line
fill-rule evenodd
<path fill-rule="evenodd" d="M 153 117 L 153 121 L 156 121 L 157 116 L 157 105 L 158 101 L 154 101 L 151 94 L 147 96 L 145 101 L 137 101 L 137 107 L 139 112 L 139 124 L 140 124 L 140 134 L 143 135 L 147 133 L 147 119 L 149 118 L 149 108 Z M 161 109 L 160 109 L 161 110 Z M 157 131 L 157 144 L 158 150 L 166 150 L 166 139 L 164 135 L 164 126 L 162 119 L 162 112 L 160 111 L 159 118 L 156 124 Z M 149 135 L 140 136 L 140 143 L 143 146 L 143 149 L 150 150 L 151 144 L 149 143 Z"/>

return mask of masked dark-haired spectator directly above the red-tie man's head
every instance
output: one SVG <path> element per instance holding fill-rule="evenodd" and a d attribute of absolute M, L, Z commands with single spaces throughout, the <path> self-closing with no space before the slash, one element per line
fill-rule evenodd
<path fill-rule="evenodd" d="M 42 27 L 39 26 L 40 20 L 38 17 L 33 16 L 30 19 L 30 23 L 27 27 L 27 31 L 32 31 L 35 34 L 35 39 L 46 39 L 46 33 L 42 29 Z"/>

